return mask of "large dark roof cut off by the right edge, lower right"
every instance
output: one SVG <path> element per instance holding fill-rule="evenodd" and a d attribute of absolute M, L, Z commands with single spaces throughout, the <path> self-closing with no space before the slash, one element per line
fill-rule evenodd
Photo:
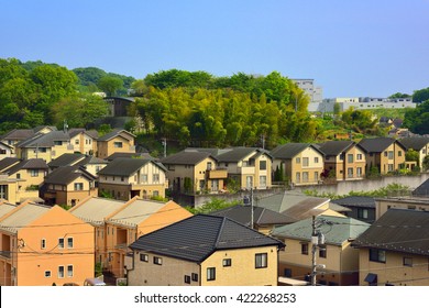
<path fill-rule="evenodd" d="M 352 245 L 429 256 L 428 234 L 429 212 L 389 209 Z"/>

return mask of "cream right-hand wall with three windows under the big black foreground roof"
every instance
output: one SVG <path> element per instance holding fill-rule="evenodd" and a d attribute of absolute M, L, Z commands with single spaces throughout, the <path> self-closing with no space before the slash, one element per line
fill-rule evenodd
<path fill-rule="evenodd" d="M 267 254 L 267 267 L 255 268 L 255 254 Z M 231 266 L 222 261 L 231 258 Z M 249 248 L 216 251 L 201 263 L 202 286 L 276 286 L 278 253 L 277 246 Z M 216 268 L 216 279 L 207 280 L 207 268 Z"/>

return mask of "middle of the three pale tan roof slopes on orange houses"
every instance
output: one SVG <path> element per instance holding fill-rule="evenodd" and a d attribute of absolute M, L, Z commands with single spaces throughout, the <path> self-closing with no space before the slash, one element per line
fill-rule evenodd
<path fill-rule="evenodd" d="M 105 223 L 105 218 L 111 216 L 124 205 L 125 201 L 122 200 L 91 197 L 68 211 L 81 220 L 100 226 Z"/>

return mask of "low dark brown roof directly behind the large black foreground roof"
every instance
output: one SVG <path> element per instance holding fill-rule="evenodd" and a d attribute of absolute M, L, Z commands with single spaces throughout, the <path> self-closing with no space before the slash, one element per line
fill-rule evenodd
<path fill-rule="evenodd" d="M 210 215 L 228 217 L 244 226 L 251 226 L 252 220 L 252 207 L 251 206 L 234 206 L 218 211 L 213 211 Z M 285 215 L 272 211 L 270 209 L 253 207 L 253 221 L 255 224 L 286 224 L 295 222 L 296 219 L 287 217 Z"/>

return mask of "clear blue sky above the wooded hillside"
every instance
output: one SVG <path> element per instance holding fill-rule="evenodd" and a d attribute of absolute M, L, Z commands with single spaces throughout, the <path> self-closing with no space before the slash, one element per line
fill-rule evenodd
<path fill-rule="evenodd" d="M 315 79 L 323 98 L 429 87 L 429 0 L 0 0 L 0 58 L 144 78 Z"/>

